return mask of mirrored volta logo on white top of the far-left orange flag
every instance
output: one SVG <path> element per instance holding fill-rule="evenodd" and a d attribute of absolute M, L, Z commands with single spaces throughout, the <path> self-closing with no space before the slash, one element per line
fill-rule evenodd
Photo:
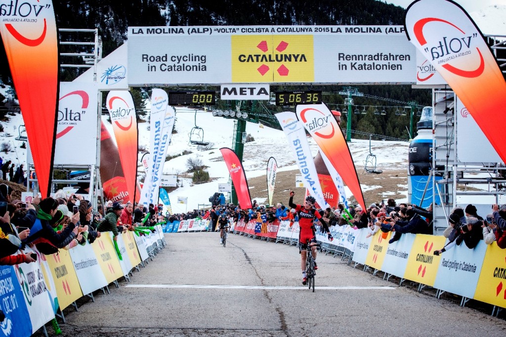
<path fill-rule="evenodd" d="M 18 0 L 0 4 L 0 17 L 7 31 L 20 43 L 34 47 L 41 44 L 48 31 L 48 10 L 53 14 L 51 2 Z M 16 23 L 22 23 L 16 28 Z M 29 29 L 26 26 L 29 23 Z"/>

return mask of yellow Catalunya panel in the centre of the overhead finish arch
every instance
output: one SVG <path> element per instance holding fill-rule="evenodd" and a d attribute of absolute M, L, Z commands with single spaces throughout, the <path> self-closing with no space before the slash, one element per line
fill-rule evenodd
<path fill-rule="evenodd" d="M 312 82 L 313 35 L 233 35 L 232 82 Z"/>

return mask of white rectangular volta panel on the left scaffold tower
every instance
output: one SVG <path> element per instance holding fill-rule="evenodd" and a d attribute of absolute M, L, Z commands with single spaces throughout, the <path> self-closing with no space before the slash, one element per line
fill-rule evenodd
<path fill-rule="evenodd" d="M 97 162 L 98 89 L 93 83 L 61 82 L 54 165 Z M 82 145 L 76 151 L 76 140 Z"/>

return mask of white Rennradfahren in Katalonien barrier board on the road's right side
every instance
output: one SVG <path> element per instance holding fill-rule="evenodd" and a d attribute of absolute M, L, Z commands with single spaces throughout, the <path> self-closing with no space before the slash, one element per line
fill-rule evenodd
<path fill-rule="evenodd" d="M 415 237 L 415 234 L 405 233 L 398 241 L 388 245 L 382 271 L 397 277 L 404 276 Z"/>

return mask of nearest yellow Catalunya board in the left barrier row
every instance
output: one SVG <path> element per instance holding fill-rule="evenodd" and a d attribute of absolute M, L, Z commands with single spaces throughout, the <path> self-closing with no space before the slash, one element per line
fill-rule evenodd
<path fill-rule="evenodd" d="M 58 304 L 60 310 L 63 311 L 72 302 L 82 297 L 74 264 L 70 259 L 69 252 L 65 249 L 60 249 L 57 254 L 47 256 L 47 261 L 55 282 Z"/>

